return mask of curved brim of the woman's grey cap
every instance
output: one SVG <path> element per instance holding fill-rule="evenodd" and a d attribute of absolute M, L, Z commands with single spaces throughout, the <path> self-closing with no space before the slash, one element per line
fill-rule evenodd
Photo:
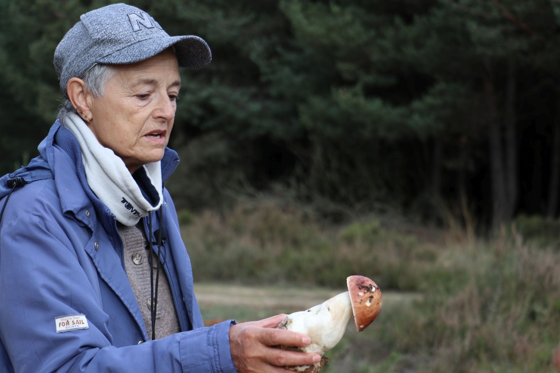
<path fill-rule="evenodd" d="M 212 60 L 212 52 L 206 41 L 194 35 L 156 37 L 139 41 L 97 60 L 103 64 L 127 64 L 141 62 L 174 46 L 180 67 L 200 68 Z"/>

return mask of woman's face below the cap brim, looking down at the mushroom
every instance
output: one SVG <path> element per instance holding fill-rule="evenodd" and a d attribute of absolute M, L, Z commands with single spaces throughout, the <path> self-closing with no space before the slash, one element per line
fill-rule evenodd
<path fill-rule="evenodd" d="M 142 62 L 113 67 L 104 95 L 91 98 L 88 126 L 132 173 L 164 156 L 181 87 L 179 64 L 168 49 Z"/>

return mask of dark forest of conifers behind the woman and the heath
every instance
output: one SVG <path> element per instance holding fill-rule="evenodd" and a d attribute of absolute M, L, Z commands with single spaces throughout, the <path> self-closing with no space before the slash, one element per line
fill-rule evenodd
<path fill-rule="evenodd" d="M 0 173 L 37 155 L 60 105 L 54 49 L 108 3 L 0 0 Z M 481 230 L 558 215 L 557 0 L 129 3 L 212 48 L 182 72 L 180 207 L 268 193 L 334 221 L 451 214 Z"/>

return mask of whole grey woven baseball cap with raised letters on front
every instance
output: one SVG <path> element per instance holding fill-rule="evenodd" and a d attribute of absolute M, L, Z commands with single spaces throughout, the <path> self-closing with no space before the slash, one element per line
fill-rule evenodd
<path fill-rule="evenodd" d="M 169 36 L 148 13 L 127 4 L 113 4 L 80 17 L 54 51 L 60 91 L 73 77 L 95 64 L 127 64 L 175 48 L 180 67 L 204 67 L 212 60 L 206 41 L 198 36 Z"/>

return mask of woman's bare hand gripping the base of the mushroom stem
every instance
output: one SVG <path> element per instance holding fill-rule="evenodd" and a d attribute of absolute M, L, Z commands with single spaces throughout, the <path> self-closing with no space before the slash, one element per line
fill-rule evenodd
<path fill-rule="evenodd" d="M 284 365 L 313 365 L 321 360 L 317 353 L 286 351 L 270 346 L 304 347 L 310 343 L 305 334 L 276 329 L 286 315 L 233 325 L 230 328 L 231 357 L 239 373 L 286 373 Z"/>

